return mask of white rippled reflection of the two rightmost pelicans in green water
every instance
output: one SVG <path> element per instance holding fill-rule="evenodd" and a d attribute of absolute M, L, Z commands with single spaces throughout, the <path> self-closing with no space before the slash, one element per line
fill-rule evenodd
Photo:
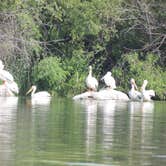
<path fill-rule="evenodd" d="M 129 102 L 130 112 L 130 133 L 129 133 L 129 151 L 132 156 L 133 149 L 137 145 L 143 151 L 148 151 L 152 147 L 153 131 L 153 102 Z M 144 153 L 143 153 L 144 154 Z M 141 157 L 141 156 L 140 156 Z M 145 158 L 145 156 L 142 156 Z M 149 159 L 147 163 L 149 162 Z M 145 160 L 143 160 L 145 162 Z M 132 162 L 132 161 L 131 161 Z"/>

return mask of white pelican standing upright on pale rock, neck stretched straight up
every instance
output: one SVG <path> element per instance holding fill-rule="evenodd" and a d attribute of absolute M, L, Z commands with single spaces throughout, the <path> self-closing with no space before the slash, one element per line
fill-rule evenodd
<path fill-rule="evenodd" d="M 92 76 L 92 66 L 89 66 L 89 74 L 86 78 L 86 85 L 90 91 L 96 91 L 98 88 L 98 81 Z"/>

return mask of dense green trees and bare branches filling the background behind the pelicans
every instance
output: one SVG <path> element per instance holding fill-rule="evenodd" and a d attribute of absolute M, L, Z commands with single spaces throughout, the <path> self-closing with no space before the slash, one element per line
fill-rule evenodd
<path fill-rule="evenodd" d="M 147 77 L 161 97 L 163 80 L 151 77 L 165 75 L 165 5 L 162 0 L 1 1 L 0 58 L 21 93 L 32 82 L 60 94 L 82 92 L 92 65 L 97 78 L 113 70 L 125 91 L 131 76 L 136 74 L 139 84 Z"/>

